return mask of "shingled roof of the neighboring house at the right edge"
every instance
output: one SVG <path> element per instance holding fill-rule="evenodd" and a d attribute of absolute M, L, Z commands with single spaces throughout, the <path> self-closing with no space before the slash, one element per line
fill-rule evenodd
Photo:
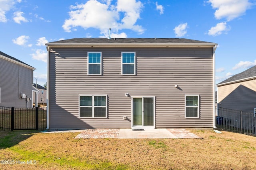
<path fill-rule="evenodd" d="M 242 73 L 238 73 L 236 75 L 233 75 L 232 77 L 229 77 L 228 79 L 218 83 L 217 86 L 223 83 L 238 81 L 240 79 L 246 79 L 249 77 L 256 77 L 256 65 L 251 67 L 250 69 L 247 69 L 246 71 L 243 71 Z"/>

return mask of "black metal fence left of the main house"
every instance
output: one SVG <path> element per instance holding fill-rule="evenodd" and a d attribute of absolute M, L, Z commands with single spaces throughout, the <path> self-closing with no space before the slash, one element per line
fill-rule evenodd
<path fill-rule="evenodd" d="M 46 129 L 46 110 L 35 108 L 0 107 L 0 129 Z"/>

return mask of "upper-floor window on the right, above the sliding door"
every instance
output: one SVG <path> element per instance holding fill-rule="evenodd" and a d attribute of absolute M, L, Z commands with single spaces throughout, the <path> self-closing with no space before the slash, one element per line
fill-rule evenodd
<path fill-rule="evenodd" d="M 122 52 L 122 75 L 135 75 L 135 52 Z"/>

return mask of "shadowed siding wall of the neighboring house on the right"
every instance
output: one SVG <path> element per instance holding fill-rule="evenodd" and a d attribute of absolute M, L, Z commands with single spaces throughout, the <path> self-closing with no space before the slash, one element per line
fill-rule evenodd
<path fill-rule="evenodd" d="M 219 86 L 218 106 L 253 113 L 256 108 L 256 79 Z"/>

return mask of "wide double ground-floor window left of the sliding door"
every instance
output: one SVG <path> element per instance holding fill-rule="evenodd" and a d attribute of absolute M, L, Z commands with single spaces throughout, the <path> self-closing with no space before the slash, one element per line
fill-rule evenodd
<path fill-rule="evenodd" d="M 80 118 L 106 118 L 106 95 L 80 95 Z"/>

